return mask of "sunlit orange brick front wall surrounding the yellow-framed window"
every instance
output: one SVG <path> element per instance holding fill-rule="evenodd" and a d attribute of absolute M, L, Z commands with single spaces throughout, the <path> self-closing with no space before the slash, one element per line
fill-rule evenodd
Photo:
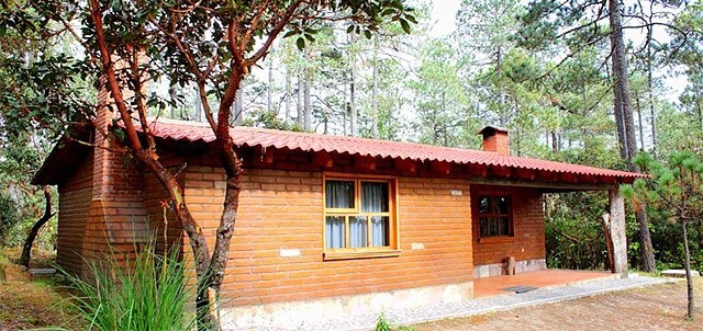
<path fill-rule="evenodd" d="M 189 167 L 186 201 L 209 238 L 224 173 Z M 322 173 L 247 170 L 223 284 L 225 305 L 256 305 L 471 281 L 468 182 L 399 178 L 397 258 L 323 261 Z M 455 195 L 451 191 L 455 190 Z M 462 195 L 456 195 L 458 191 Z M 414 248 L 414 249 L 413 249 Z M 280 250 L 300 255 L 281 258 Z M 188 250 L 188 248 L 186 248 Z"/>

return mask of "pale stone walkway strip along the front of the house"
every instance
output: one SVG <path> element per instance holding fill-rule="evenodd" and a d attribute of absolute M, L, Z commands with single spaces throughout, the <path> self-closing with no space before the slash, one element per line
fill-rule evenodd
<path fill-rule="evenodd" d="M 415 324 L 446 318 L 467 317 L 491 311 L 576 299 L 607 292 L 663 284 L 666 278 L 631 275 L 629 278 L 599 279 L 582 284 L 539 288 L 523 294 L 507 294 L 453 304 L 437 304 L 413 309 L 387 310 L 386 319 L 393 326 Z M 342 317 L 302 324 L 298 330 L 373 330 L 378 313 Z"/>

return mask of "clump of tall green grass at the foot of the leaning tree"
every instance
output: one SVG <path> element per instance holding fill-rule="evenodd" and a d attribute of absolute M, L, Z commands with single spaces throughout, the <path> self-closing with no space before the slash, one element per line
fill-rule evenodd
<path fill-rule="evenodd" d="M 178 250 L 163 256 L 155 247 L 137 250 L 127 267 L 111 254 L 88 262 L 90 279 L 69 276 L 78 293 L 74 305 L 91 330 L 193 330 L 189 298 L 194 290 L 187 285 Z"/>

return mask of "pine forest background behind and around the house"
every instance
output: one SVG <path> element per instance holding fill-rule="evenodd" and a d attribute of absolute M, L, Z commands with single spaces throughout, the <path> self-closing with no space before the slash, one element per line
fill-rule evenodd
<path fill-rule="evenodd" d="M 372 38 L 335 23 L 291 34 L 246 78 L 233 124 L 472 149 L 480 148 L 477 132 L 496 125 L 510 129 L 513 155 L 628 169 L 605 3 L 464 0 L 454 13 L 433 11 L 444 1 L 417 0 L 410 3 L 417 24 L 389 25 Z M 451 20 L 433 12 L 455 16 L 456 28 L 438 33 Z M 703 3 L 626 1 L 622 23 L 637 151 L 703 157 Z M 1 26 L 0 37 L 3 64 L 33 68 L 27 79 L 43 72 L 33 61 L 77 47 L 13 38 Z M 9 68 L 0 69 L 0 244 L 18 247 L 44 213 L 42 187 L 29 183 L 64 124 L 16 106 L 18 76 Z M 92 82 L 74 82 L 94 100 Z M 150 115 L 205 121 L 196 87 L 157 81 L 149 91 L 164 100 Z M 604 193 L 546 196 L 550 267 L 607 267 L 606 207 Z M 656 267 L 681 267 L 680 226 L 657 205 L 638 204 L 628 207 L 631 265 L 648 270 L 638 208 L 648 212 Z M 52 250 L 56 228 L 54 217 L 36 244 Z M 701 219 L 690 222 L 689 238 L 692 267 L 703 271 Z"/>

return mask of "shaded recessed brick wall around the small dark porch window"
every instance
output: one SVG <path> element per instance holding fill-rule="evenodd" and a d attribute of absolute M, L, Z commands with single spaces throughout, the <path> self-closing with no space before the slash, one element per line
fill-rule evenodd
<path fill-rule="evenodd" d="M 473 215 L 473 263 L 475 265 L 501 263 L 505 256 L 515 260 L 545 259 L 545 225 L 542 209 L 542 193 L 531 189 L 475 185 L 471 194 L 510 194 L 513 201 L 514 238 L 491 242 L 479 240 L 478 214 Z M 478 210 L 478 207 L 473 207 Z M 488 242 L 487 242 L 488 241 Z"/>

